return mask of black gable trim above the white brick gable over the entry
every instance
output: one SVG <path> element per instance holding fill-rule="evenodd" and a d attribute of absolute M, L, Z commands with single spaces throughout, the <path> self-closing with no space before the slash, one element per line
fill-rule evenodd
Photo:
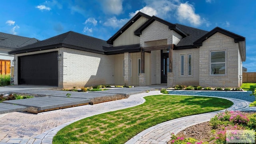
<path fill-rule="evenodd" d="M 142 34 L 142 31 L 145 28 L 147 28 L 150 24 L 152 24 L 152 22 L 154 22 L 155 20 L 158 22 L 161 22 L 163 24 L 166 24 L 170 30 L 174 30 L 175 32 L 180 34 L 182 37 L 186 37 L 188 35 L 186 32 L 184 32 L 183 30 L 178 28 L 175 24 L 167 22 L 166 20 L 162 20 L 161 18 L 158 18 L 156 16 L 152 16 L 148 21 L 146 21 L 144 24 L 142 24 L 142 26 L 140 26 L 137 30 L 135 30 L 134 34 L 136 36 L 140 36 Z"/>

